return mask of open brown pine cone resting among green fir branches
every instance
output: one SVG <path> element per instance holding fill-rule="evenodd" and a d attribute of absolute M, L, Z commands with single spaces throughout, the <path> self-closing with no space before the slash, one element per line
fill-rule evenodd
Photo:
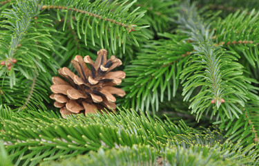
<path fill-rule="evenodd" d="M 75 56 L 72 64 L 80 77 L 66 67 L 60 68 L 59 75 L 69 83 L 60 77 L 52 77 L 53 85 L 50 87 L 53 92 L 50 98 L 56 100 L 54 106 L 61 108 L 62 117 L 72 113 L 96 113 L 96 110 L 104 111 L 104 108 L 115 110 L 113 94 L 123 97 L 125 92 L 113 86 L 121 84 L 125 73 L 112 70 L 122 62 L 114 55 L 107 60 L 107 51 L 102 49 L 97 52 L 95 64 L 88 55 L 84 59 L 80 55 Z"/>

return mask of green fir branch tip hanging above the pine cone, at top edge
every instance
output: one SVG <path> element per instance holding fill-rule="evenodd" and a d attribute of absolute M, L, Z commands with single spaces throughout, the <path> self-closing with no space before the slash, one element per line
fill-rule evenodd
<path fill-rule="evenodd" d="M 57 10 L 57 17 L 59 21 L 61 20 L 59 16 L 59 10 L 65 11 L 66 16 L 64 18 L 64 27 L 66 25 L 66 20 L 68 17 L 68 12 L 70 11 L 71 27 L 74 28 L 72 24 L 72 15 L 75 12 L 75 18 L 77 22 L 77 35 L 79 39 L 81 36 L 84 37 L 84 42 L 87 46 L 88 39 L 87 34 L 90 33 L 93 46 L 95 46 L 95 37 L 100 41 L 101 47 L 104 48 L 104 43 L 107 46 L 111 45 L 111 50 L 115 53 L 115 50 L 118 46 L 122 46 L 123 53 L 125 53 L 126 38 L 130 36 L 134 42 L 137 44 L 137 40 L 133 35 L 133 31 L 139 31 L 145 26 L 138 26 L 137 23 L 141 17 L 144 16 L 145 11 L 136 12 L 137 9 L 128 13 L 129 8 L 136 1 L 128 3 L 126 1 L 113 1 L 109 3 L 108 1 L 97 0 L 93 3 L 90 3 L 88 0 L 81 1 L 44 1 L 44 5 L 41 7 L 44 9 L 55 9 Z M 127 5 L 125 5 L 128 3 Z M 87 5 L 86 5 L 87 4 Z M 115 9 L 116 8 L 116 9 Z M 122 17 L 121 17 L 122 16 Z M 95 27 L 95 28 L 94 28 Z M 88 30 L 90 28 L 90 30 Z M 110 32 L 108 33 L 108 28 Z M 90 32 L 88 32 L 90 31 Z M 108 42 L 110 40 L 110 42 Z"/>

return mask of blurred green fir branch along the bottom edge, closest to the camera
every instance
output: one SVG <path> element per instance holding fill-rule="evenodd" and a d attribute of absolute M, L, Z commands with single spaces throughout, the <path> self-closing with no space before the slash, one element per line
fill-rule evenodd
<path fill-rule="evenodd" d="M 202 149 L 202 150 L 201 150 Z M 88 155 L 70 158 L 61 162 L 47 162 L 42 165 L 242 165 L 234 157 L 224 158 L 227 152 L 216 145 L 214 149 L 196 145 L 190 149 L 166 147 L 156 151 L 149 145 L 115 147 L 113 149 L 90 151 Z M 226 153 L 226 154 L 224 154 Z M 224 154 L 224 156 L 222 156 Z M 224 158 L 224 159 L 223 159 Z"/>

